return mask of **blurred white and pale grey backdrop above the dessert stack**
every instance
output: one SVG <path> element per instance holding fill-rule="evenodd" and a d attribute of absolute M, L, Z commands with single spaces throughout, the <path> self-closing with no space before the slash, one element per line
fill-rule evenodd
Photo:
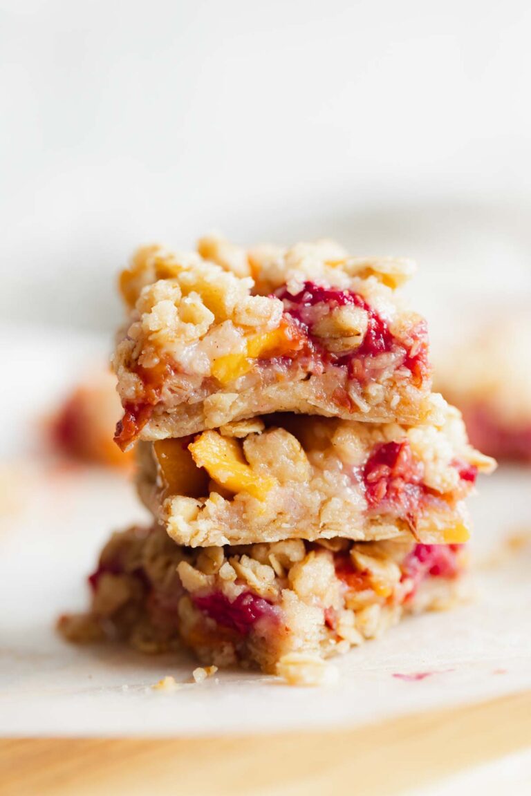
<path fill-rule="evenodd" d="M 439 330 L 461 295 L 531 295 L 527 0 L 0 14 L 2 322 L 111 330 L 131 250 L 213 228 L 414 256 Z"/>

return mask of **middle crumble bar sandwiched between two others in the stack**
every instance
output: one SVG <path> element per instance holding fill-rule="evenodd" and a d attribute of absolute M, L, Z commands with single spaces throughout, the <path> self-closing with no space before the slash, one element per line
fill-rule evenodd
<path fill-rule="evenodd" d="M 265 422 L 264 422 L 265 421 Z M 267 423 L 267 426 L 266 426 Z M 139 444 L 139 494 L 178 544 L 404 537 L 459 544 L 494 460 L 442 427 L 275 415 Z"/>

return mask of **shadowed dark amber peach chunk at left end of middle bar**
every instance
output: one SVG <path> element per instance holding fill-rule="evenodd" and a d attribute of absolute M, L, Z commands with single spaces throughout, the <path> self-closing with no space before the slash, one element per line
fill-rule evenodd
<path fill-rule="evenodd" d="M 202 497 L 208 494 L 209 474 L 194 462 L 188 439 L 159 439 L 154 456 L 167 494 Z"/>

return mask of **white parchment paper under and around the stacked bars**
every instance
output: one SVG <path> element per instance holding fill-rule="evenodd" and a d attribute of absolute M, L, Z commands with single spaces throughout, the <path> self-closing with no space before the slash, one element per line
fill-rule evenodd
<path fill-rule="evenodd" d="M 166 674 L 189 681 L 193 658 L 63 642 L 55 618 L 88 604 L 85 579 L 101 544 L 145 514 L 120 474 L 65 466 L 36 443 L 39 414 L 101 355 L 101 341 L 18 333 L 5 350 L 4 372 L 18 391 L 0 396 L 0 733 L 190 735 L 355 725 L 531 687 L 531 470 L 502 469 L 479 482 L 471 501 L 474 601 L 410 618 L 339 658 L 339 680 L 325 689 L 232 671 L 157 692 L 151 685 Z M 517 548 L 507 544 L 514 534 Z M 416 673 L 428 675 L 402 677 Z"/>

